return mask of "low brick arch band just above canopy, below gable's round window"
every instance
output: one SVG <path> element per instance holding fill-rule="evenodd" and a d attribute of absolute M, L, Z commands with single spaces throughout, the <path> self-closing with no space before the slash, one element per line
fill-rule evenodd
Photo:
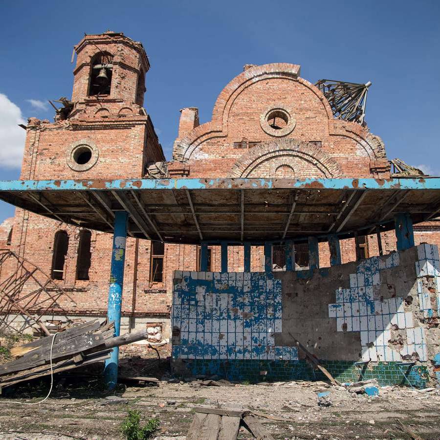
<path fill-rule="evenodd" d="M 343 177 L 341 166 L 329 154 L 323 152 L 320 147 L 297 139 L 280 139 L 253 148 L 233 165 L 229 176 L 247 177 L 264 162 L 273 159 L 283 158 L 282 161 L 276 161 L 277 166 L 281 163 L 289 166 L 289 157 L 308 162 L 327 178 Z"/>

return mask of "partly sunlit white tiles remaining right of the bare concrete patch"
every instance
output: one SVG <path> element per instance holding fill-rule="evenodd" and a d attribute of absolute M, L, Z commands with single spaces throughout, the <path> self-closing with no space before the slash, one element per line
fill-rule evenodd
<path fill-rule="evenodd" d="M 436 307 L 440 304 L 440 262 L 437 246 L 422 243 L 417 246 L 416 276 L 420 310 L 425 317 L 433 315 L 431 296 L 423 277 L 434 277 L 437 291 Z M 378 257 L 363 260 L 356 273 L 350 274 L 350 288 L 336 291 L 336 303 L 329 304 L 329 317 L 336 318 L 338 331 L 359 331 L 362 360 L 404 361 L 402 356 L 418 354 L 427 361 L 425 330 L 416 324 L 411 311 L 405 311 L 401 297 L 374 300 L 374 287 L 380 284 L 380 271 L 399 265 L 399 254 L 392 252 L 386 260 Z M 400 351 L 389 347 L 391 330 L 406 332 L 406 344 Z"/>

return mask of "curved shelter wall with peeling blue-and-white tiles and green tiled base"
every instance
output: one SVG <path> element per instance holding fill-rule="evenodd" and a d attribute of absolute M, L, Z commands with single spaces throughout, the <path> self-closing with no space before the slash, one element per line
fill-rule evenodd
<path fill-rule="evenodd" d="M 439 287 L 439 252 L 425 243 L 359 264 L 275 277 L 264 272 L 175 271 L 172 357 L 182 360 L 185 374 L 312 380 L 319 372 L 298 359 L 296 347 L 283 344 L 293 340 L 290 331 L 306 343 L 316 331 L 321 341 L 317 345 L 327 344 L 324 349 L 330 356 L 321 363 L 339 380 L 377 377 L 382 384 L 409 380 L 423 386 L 434 356 L 431 345 L 436 344 L 436 329 L 426 323 L 439 314 Z M 416 296 L 412 303 L 411 295 Z M 317 300 L 323 297 L 328 299 L 321 307 Z M 333 298 L 335 302 L 328 304 Z M 303 312 L 298 314 L 300 308 Z M 308 319 L 315 323 L 311 330 L 301 325 Z M 338 339 L 337 332 L 358 336 Z M 433 332 L 430 339 L 428 332 Z M 350 346 L 343 348 L 336 341 Z M 341 349 L 350 357 L 339 357 Z M 370 362 L 355 363 L 361 360 Z M 422 364 L 410 365 L 411 361 Z"/>

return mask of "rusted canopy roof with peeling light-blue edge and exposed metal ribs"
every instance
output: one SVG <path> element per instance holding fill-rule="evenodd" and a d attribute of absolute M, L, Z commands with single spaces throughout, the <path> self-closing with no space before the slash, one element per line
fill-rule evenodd
<path fill-rule="evenodd" d="M 340 238 L 415 223 L 440 212 L 440 178 L 124 179 L 0 181 L 0 198 L 48 218 L 112 232 L 130 214 L 132 237 L 177 243 Z"/>

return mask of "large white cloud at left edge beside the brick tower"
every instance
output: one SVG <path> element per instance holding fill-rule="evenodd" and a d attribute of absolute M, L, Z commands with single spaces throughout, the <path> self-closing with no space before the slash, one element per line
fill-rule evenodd
<path fill-rule="evenodd" d="M 22 110 L 0 93 L 0 166 L 21 168 L 26 132 L 18 124 L 27 125 Z"/>

